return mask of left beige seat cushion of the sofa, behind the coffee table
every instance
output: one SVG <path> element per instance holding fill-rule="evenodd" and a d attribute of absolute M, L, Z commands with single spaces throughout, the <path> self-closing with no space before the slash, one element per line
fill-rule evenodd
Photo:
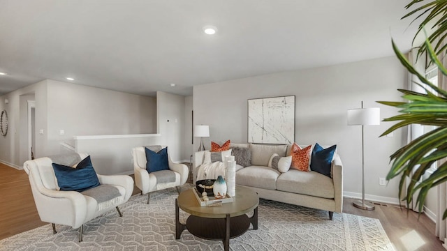
<path fill-rule="evenodd" d="M 270 190 L 277 189 L 279 172 L 270 167 L 250 166 L 236 172 L 236 184 Z"/>

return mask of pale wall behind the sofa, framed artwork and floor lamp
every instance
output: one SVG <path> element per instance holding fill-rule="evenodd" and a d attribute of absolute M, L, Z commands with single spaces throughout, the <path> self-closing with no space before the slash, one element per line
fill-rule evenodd
<path fill-rule="evenodd" d="M 361 127 L 346 126 L 346 110 L 380 107 L 381 118 L 397 114 L 376 100 L 402 100 L 396 89 L 406 86 L 407 74 L 395 56 L 324 68 L 298 70 L 228 82 L 194 86 L 194 124 L 210 126 L 210 141 L 247 142 L 247 99 L 295 95 L 295 142 L 337 144 L 344 164 L 345 195 L 360 197 Z M 389 169 L 389 156 L 404 144 L 406 132 L 379 135 L 391 123 L 365 126 L 365 190 L 367 198 L 397 202 L 398 180 L 379 185 Z M 195 142 L 194 148 L 198 147 Z"/>

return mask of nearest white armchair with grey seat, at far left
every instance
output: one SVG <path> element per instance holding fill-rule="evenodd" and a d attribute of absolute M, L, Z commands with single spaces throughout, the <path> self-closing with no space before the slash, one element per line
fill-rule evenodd
<path fill-rule="evenodd" d="M 85 153 L 79 153 L 80 159 L 87 157 Z M 100 175 L 98 180 L 101 185 L 110 185 L 119 191 L 119 196 L 98 203 L 93 195 L 87 196 L 75 191 L 60 191 L 57 178 L 54 175 L 51 158 L 37 158 L 24 162 L 24 170 L 29 176 L 31 191 L 39 217 L 43 222 L 52 223 L 53 233 L 56 234 L 55 224 L 68 225 L 79 228 L 79 241 L 82 241 L 82 225 L 96 218 L 112 208 L 117 208 L 119 216 L 122 213 L 118 206 L 124 204 L 132 195 L 133 179 L 128 175 Z M 106 188 L 106 192 L 110 190 Z M 112 190 L 116 189 L 112 188 Z M 104 190 L 101 190 L 101 196 Z"/>

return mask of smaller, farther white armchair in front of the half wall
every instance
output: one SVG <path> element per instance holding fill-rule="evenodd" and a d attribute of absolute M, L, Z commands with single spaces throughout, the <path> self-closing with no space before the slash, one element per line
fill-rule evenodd
<path fill-rule="evenodd" d="M 159 151 L 166 146 L 147 146 L 152 151 Z M 135 174 L 135 185 L 140 188 L 141 195 L 147 194 L 147 204 L 149 204 L 150 192 L 163 190 L 166 188 L 177 188 L 179 192 L 179 185 L 186 183 L 189 175 L 189 169 L 184 164 L 173 162 L 168 154 L 169 169 L 175 174 L 175 181 L 160 183 L 157 181 L 154 173 L 147 172 L 146 169 L 146 151 L 145 146 L 139 146 L 132 149 L 133 157 L 133 171 Z"/>

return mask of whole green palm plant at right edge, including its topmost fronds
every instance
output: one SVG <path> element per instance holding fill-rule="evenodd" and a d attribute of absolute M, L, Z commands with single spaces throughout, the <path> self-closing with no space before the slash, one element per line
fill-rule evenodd
<path fill-rule="evenodd" d="M 430 62 L 437 66 L 439 73 L 446 76 L 447 70 L 437 56 L 445 56 L 447 50 L 447 43 L 444 45 L 447 39 L 447 0 L 411 0 L 405 8 L 413 8 L 419 4 L 419 7 L 409 12 L 402 19 L 417 14 L 413 22 L 422 20 L 415 39 L 418 33 L 425 31 L 425 26 L 433 24 L 430 27 L 432 34 L 426 36 L 425 43 L 418 50 L 418 56 L 425 52 L 430 57 Z M 435 45 L 434 48 L 432 45 Z M 423 175 L 434 162 L 442 161 L 447 157 L 447 91 L 432 84 L 424 75 L 418 73 L 402 52 L 397 49 L 394 41 L 393 50 L 402 65 L 423 83 L 419 85 L 425 89 L 425 93 L 399 89 L 398 91 L 403 93 L 402 98 L 406 102 L 379 101 L 383 105 L 400 109 L 399 115 L 383 120 L 400 122 L 383 132 L 381 137 L 411 124 L 437 127 L 390 155 L 392 165 L 386 176 L 387 180 L 400 176 L 399 195 L 402 195 L 406 186 L 406 195 L 402 197 L 402 200 L 406 201 L 407 205 L 411 203 L 413 195 L 419 192 L 416 198 L 416 206 L 419 211 L 422 211 L 428 191 L 447 181 L 447 162 L 441 163 L 436 171 L 422 181 Z M 410 178 L 409 184 L 405 182 L 407 177 Z M 447 210 L 443 214 L 444 218 L 447 218 Z"/>

